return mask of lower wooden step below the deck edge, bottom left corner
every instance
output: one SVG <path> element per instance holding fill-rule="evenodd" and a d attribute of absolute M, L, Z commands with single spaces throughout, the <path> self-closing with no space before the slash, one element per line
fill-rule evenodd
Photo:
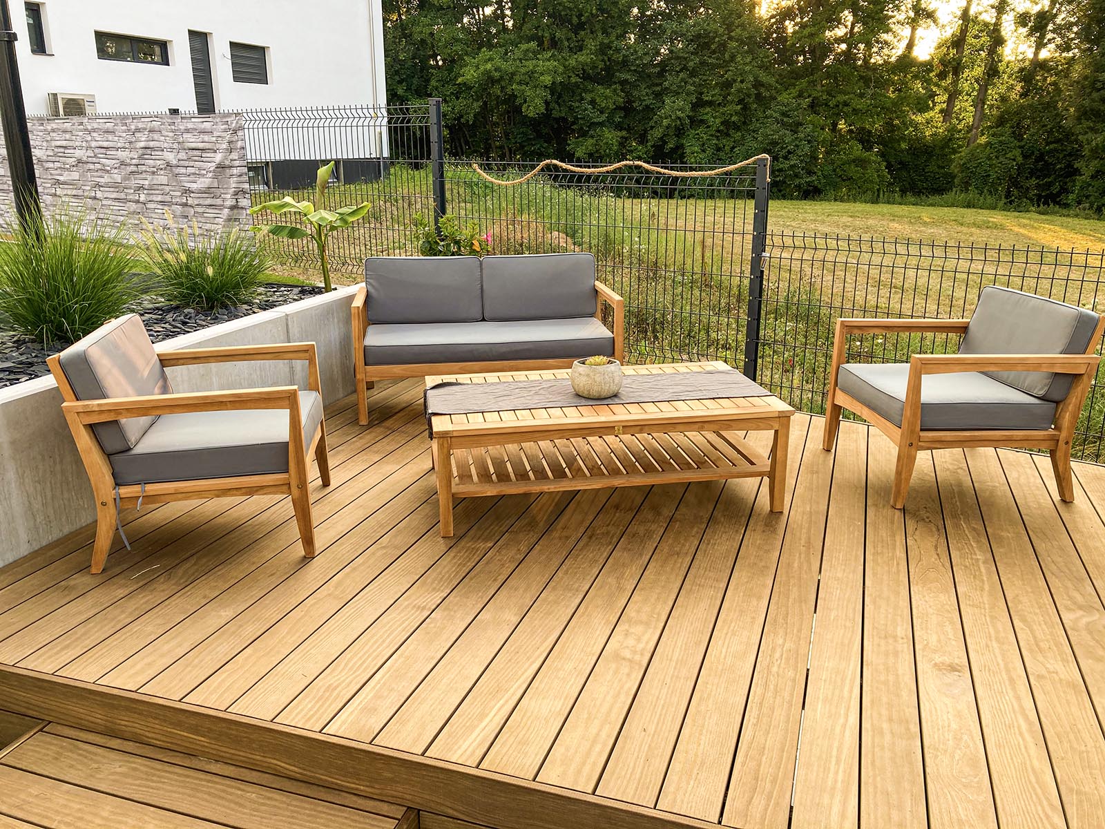
<path fill-rule="evenodd" d="M 0 748 L 4 829 L 397 829 L 412 826 L 407 811 L 57 724 L 40 724 Z"/>

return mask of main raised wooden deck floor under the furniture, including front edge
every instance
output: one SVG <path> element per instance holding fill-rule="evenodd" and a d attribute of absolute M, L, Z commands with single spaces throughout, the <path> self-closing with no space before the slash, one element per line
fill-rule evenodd
<path fill-rule="evenodd" d="M 923 454 L 895 511 L 891 444 L 800 414 L 781 514 L 512 495 L 441 538 L 421 382 L 370 403 L 328 412 L 314 560 L 252 497 L 0 570 L 0 707 L 502 829 L 1105 826 L 1105 468 L 1067 505 L 1045 459 Z"/>

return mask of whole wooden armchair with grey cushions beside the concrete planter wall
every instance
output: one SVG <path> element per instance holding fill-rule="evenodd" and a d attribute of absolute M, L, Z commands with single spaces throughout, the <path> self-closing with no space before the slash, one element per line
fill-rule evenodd
<path fill-rule="evenodd" d="M 242 360 L 304 360 L 308 390 L 173 393 L 165 374 L 170 366 Z M 311 452 L 324 486 L 330 474 L 314 343 L 158 355 L 141 319 L 130 314 L 48 364 L 96 499 L 92 573 L 104 568 L 118 510 L 191 499 L 291 495 L 303 552 L 315 555 Z"/>

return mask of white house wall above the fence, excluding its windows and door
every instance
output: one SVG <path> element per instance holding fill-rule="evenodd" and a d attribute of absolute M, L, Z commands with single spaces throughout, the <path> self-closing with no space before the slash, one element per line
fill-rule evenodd
<path fill-rule="evenodd" d="M 189 30 L 210 33 L 218 109 L 387 103 L 380 0 L 44 0 L 46 48 L 32 54 L 12 3 L 29 113 L 51 92 L 94 95 L 107 112 L 196 109 Z M 96 57 L 95 32 L 166 41 L 169 65 Z M 230 42 L 267 48 L 269 83 L 232 80 Z"/>

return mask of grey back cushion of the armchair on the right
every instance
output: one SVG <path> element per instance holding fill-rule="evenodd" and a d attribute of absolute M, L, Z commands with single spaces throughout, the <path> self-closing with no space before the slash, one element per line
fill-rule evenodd
<path fill-rule="evenodd" d="M 1098 316 L 1075 305 L 1009 287 L 988 285 L 978 297 L 959 354 L 1084 354 Z M 1059 402 L 1071 375 L 1048 371 L 987 371 L 1021 391 Z"/>

